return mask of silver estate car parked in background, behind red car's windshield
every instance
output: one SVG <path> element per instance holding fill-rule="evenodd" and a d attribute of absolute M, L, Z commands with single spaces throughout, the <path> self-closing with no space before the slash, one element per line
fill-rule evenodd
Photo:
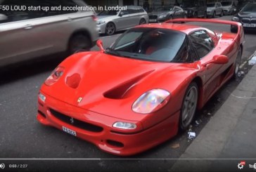
<path fill-rule="evenodd" d="M 97 28 L 100 34 L 110 35 L 146 23 L 148 23 L 148 13 L 141 6 L 127 6 L 127 10 L 98 13 Z"/>

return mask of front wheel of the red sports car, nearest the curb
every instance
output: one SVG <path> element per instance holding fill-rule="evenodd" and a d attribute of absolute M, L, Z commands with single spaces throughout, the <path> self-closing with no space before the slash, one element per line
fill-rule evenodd
<path fill-rule="evenodd" d="M 186 93 L 184 95 L 181 105 L 181 114 L 179 117 L 179 128 L 181 129 L 181 131 L 186 131 L 186 129 L 190 126 L 196 114 L 196 107 L 198 105 L 197 103 L 198 84 L 193 81 L 186 89 Z"/>

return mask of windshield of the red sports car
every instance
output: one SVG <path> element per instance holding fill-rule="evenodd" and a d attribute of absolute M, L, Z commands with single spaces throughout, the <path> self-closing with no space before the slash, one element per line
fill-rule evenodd
<path fill-rule="evenodd" d="M 170 29 L 134 28 L 120 36 L 105 53 L 149 61 L 177 62 L 186 34 Z"/>

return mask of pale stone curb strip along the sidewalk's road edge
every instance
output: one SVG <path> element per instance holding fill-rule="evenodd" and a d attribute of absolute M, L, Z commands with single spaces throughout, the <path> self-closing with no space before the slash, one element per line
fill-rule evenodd
<path fill-rule="evenodd" d="M 256 65 L 245 75 L 184 154 L 181 154 L 179 160 L 182 161 L 176 161 L 169 171 L 210 171 L 212 160 L 222 155 L 222 150 L 255 91 Z M 191 160 L 200 160 L 200 165 L 198 161 Z"/>

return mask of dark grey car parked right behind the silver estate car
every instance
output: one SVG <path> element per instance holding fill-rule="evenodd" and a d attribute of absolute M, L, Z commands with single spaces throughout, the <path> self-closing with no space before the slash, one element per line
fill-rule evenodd
<path fill-rule="evenodd" d="M 186 12 L 179 6 L 162 6 L 148 13 L 149 22 L 164 22 L 174 18 L 186 18 Z"/>

